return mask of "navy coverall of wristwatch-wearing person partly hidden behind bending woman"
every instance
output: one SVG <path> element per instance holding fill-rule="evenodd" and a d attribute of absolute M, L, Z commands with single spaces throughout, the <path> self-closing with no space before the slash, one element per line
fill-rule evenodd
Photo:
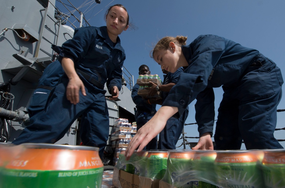
<path fill-rule="evenodd" d="M 169 83 L 177 83 L 180 73 L 183 73 L 183 68 L 180 67 L 175 73 L 167 73 L 163 80 L 163 85 Z M 162 101 L 164 101 L 169 92 L 161 91 Z M 180 138 L 185 121 L 188 117 L 189 108 L 182 113 L 180 117 L 170 117 L 164 129 L 159 133 L 158 149 L 176 149 L 176 144 Z M 178 113 L 177 113 L 178 114 Z M 175 114 L 175 115 L 177 115 Z"/>

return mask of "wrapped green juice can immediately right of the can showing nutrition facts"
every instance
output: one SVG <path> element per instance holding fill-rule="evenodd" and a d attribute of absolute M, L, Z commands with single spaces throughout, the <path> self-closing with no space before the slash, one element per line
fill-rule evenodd
<path fill-rule="evenodd" d="M 192 188 L 194 172 L 193 150 L 171 150 L 167 159 L 167 169 L 162 181 L 179 188 Z"/>

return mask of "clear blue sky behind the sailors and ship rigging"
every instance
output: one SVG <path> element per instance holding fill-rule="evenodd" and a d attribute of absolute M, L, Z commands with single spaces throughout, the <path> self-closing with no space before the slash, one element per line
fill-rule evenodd
<path fill-rule="evenodd" d="M 79 7 L 83 2 L 91 0 L 70 1 Z M 62 2 L 70 5 L 67 0 Z M 163 78 L 160 66 L 149 57 L 152 46 L 160 38 L 183 35 L 188 37 L 187 44 L 190 44 L 201 34 L 223 36 L 243 46 L 257 49 L 280 67 L 285 79 L 284 0 L 101 0 L 100 4 L 88 4 L 80 11 L 92 26 L 103 26 L 105 25 L 103 15 L 109 6 L 114 4 L 124 5 L 131 21 L 138 27 L 137 30 L 127 30 L 120 35 L 127 56 L 124 66 L 135 79 L 142 64 L 148 65 L 152 74 L 158 74 Z M 59 6 L 59 3 L 56 2 L 56 5 Z M 59 7 L 60 10 L 64 10 L 62 6 Z M 78 13 L 74 14 L 79 17 Z M 79 27 L 79 23 L 74 24 Z M 217 117 L 217 108 L 223 91 L 221 88 L 215 88 L 214 91 Z M 194 104 L 195 101 L 189 105 L 190 112 L 186 123 L 196 122 Z M 158 105 L 157 108 L 159 107 Z M 278 109 L 285 109 L 285 96 Z M 278 112 L 277 115 L 276 128 L 284 128 L 285 112 Z M 187 133 L 187 137 L 199 136 L 197 125 L 185 126 L 184 132 Z M 280 130 L 275 131 L 274 135 L 276 139 L 285 139 L 284 133 L 285 130 Z M 187 139 L 187 141 L 197 142 L 198 139 Z M 178 141 L 177 146 L 181 143 L 181 140 Z M 285 142 L 280 143 L 285 148 Z M 242 146 L 242 149 L 245 147 Z"/>

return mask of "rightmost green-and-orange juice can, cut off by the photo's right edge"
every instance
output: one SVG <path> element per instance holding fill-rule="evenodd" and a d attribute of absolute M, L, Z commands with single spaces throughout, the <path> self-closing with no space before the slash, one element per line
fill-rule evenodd
<path fill-rule="evenodd" d="M 268 188 L 285 187 L 285 150 L 264 150 L 262 160 L 264 184 Z"/>

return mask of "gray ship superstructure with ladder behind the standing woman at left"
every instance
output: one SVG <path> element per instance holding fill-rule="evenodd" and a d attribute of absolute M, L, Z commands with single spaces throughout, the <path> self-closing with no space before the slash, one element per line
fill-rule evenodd
<path fill-rule="evenodd" d="M 17 82 L 10 86 L 10 93 L 15 98 L 13 109 L 26 112 L 30 97 L 37 86 L 44 68 L 51 63 L 54 51 L 51 45 L 61 46 L 73 36 L 72 28 L 62 25 L 54 18 L 56 0 L 0 0 L 0 26 L 5 33 L 0 36 L 0 82 Z M 22 30 L 31 36 L 24 41 L 19 38 Z M 16 32 L 15 32 L 16 31 Z M 1 31 L 0 31 L 1 32 Z M 2 31 L 3 32 L 3 31 Z M 106 89 L 106 88 L 105 88 Z M 110 95 L 108 92 L 106 95 Z M 125 85 L 119 95 L 119 100 L 107 99 L 110 116 L 110 133 L 117 118 L 126 118 L 135 121 L 135 104 L 131 100 L 131 91 Z M 54 122 L 56 124 L 56 122 Z M 76 145 L 80 143 L 78 137 L 80 119 L 74 122 L 64 138 L 56 144 Z M 25 128 L 23 121 L 12 121 L 12 142 Z M 111 142 L 108 141 L 108 147 Z"/>

